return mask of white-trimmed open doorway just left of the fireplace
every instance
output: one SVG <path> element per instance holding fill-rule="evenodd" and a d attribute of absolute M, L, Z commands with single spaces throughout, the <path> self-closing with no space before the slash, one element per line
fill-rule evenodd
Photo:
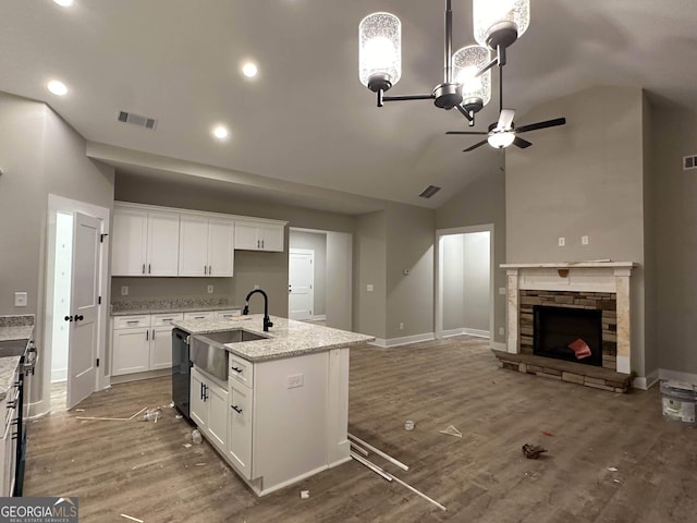
<path fill-rule="evenodd" d="M 491 338 L 493 224 L 437 231 L 436 337 Z"/>

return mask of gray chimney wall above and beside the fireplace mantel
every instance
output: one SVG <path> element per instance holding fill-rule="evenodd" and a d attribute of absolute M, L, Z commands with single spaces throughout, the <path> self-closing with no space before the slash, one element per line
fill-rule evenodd
<path fill-rule="evenodd" d="M 632 370 L 638 376 L 647 373 L 644 111 L 639 88 L 587 89 L 522 117 L 521 123 L 564 115 L 568 123 L 530 134 L 534 147 L 506 153 L 508 262 L 639 264 L 632 277 Z M 558 246 L 559 236 L 566 246 Z"/>

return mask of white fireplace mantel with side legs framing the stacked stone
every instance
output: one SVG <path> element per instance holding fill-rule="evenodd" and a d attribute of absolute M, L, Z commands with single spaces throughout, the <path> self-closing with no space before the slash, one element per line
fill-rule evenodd
<path fill-rule="evenodd" d="M 631 374 L 629 277 L 633 262 L 562 262 L 550 264 L 502 264 L 508 275 L 506 350 L 521 350 L 518 305 L 521 290 L 613 292 L 617 306 L 617 373 Z"/>

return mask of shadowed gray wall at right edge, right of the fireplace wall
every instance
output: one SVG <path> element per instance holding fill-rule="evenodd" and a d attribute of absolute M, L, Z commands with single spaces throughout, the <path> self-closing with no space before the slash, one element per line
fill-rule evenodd
<path fill-rule="evenodd" d="M 653 112 L 656 179 L 657 338 L 661 368 L 697 374 L 697 114 L 682 108 Z"/>

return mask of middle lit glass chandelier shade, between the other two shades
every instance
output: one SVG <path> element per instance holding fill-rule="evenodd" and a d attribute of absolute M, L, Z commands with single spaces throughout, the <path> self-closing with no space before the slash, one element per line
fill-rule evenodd
<path fill-rule="evenodd" d="M 491 52 L 486 47 L 467 46 L 453 54 L 453 76 L 462 85 L 465 106 L 477 110 L 491 100 L 491 70 L 477 76 L 476 73 L 489 63 Z M 476 112 L 476 111 L 475 111 Z"/>

